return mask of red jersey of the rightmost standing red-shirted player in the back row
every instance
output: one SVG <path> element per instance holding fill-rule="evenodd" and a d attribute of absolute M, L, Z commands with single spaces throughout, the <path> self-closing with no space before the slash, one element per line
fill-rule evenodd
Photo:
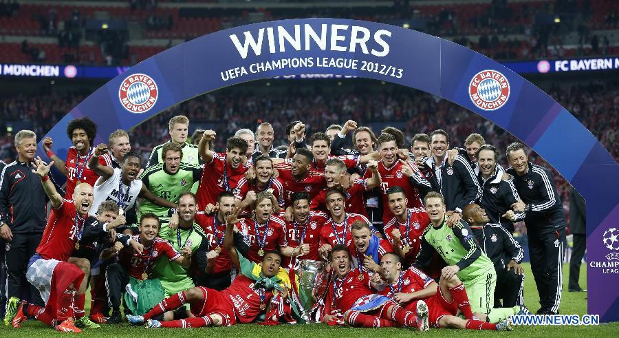
<path fill-rule="evenodd" d="M 427 182 L 425 178 L 423 178 L 422 173 L 417 169 L 417 166 L 413 164 L 413 162 L 406 162 L 406 165 L 413 169 L 413 173 L 418 176 L 419 180 L 423 180 Z M 404 195 L 409 200 L 409 203 L 406 204 L 406 207 L 409 208 L 423 208 L 424 204 L 422 204 L 422 200 L 419 196 L 419 190 L 408 176 L 402 173 L 402 162 L 396 161 L 391 168 L 385 168 L 382 160 L 378 161 L 378 172 L 380 173 L 380 178 L 382 182 L 380 183 L 380 191 L 382 193 L 382 223 L 387 224 L 393 218 L 393 213 L 391 213 L 391 209 L 389 209 L 389 198 L 387 198 L 387 190 L 391 187 L 401 187 L 404 189 Z M 368 176 L 370 175 L 370 176 Z M 371 177 L 371 171 L 365 173 L 367 178 Z M 427 182 L 429 185 L 430 183 Z"/>

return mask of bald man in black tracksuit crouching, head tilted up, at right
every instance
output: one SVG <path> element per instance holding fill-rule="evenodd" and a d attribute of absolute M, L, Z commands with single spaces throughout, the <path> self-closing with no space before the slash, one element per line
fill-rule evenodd
<path fill-rule="evenodd" d="M 524 270 L 520 263 L 524 254 L 520 244 L 503 226 L 492 224 L 486 210 L 478 204 L 468 204 L 462 216 L 470 224 L 484 253 L 495 264 L 495 308 L 501 307 L 501 300 L 503 307 L 523 305 Z"/>

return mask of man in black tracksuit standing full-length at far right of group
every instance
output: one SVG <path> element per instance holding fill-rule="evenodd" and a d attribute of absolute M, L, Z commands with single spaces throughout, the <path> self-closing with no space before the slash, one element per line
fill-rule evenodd
<path fill-rule="evenodd" d="M 563 291 L 565 211 L 550 170 L 529 162 L 525 146 L 514 142 L 506 156 L 518 195 L 525 202 L 531 271 L 539 292 L 539 315 L 558 313 Z"/>

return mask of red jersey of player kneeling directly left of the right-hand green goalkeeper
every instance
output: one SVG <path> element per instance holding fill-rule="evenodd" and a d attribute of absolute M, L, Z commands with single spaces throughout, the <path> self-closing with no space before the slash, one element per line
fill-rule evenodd
<path fill-rule="evenodd" d="M 426 209 L 423 208 L 407 209 L 406 215 L 407 221 L 404 223 L 398 222 L 398 219 L 395 217 L 391 218 L 391 220 L 384 226 L 384 233 L 387 235 L 387 239 L 391 242 L 391 244 L 400 245 L 400 247 L 404 247 L 406 244 L 410 246 L 411 250 L 406 253 L 406 259 L 402 262 L 403 266 L 410 266 L 415 262 L 417 253 L 419 253 L 421 238 L 424 230 L 430 224 L 430 218 L 428 217 Z M 408 223 L 408 229 L 406 223 Z M 400 244 L 393 243 L 393 235 L 391 235 L 391 231 L 394 229 L 400 230 L 400 233 L 402 234 Z"/>

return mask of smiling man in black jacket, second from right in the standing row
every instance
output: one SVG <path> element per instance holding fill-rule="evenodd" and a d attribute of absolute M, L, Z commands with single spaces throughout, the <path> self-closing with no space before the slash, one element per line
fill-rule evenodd
<path fill-rule="evenodd" d="M 504 171 L 498 168 L 499 151 L 492 145 L 482 145 L 477 151 L 477 179 L 481 184 L 481 195 L 477 202 L 488 213 L 492 224 L 499 224 L 510 233 L 514 232 L 514 223 L 525 217 L 524 203 L 518 196 L 512 180 L 503 180 Z M 508 213 L 513 209 L 511 213 Z"/>

